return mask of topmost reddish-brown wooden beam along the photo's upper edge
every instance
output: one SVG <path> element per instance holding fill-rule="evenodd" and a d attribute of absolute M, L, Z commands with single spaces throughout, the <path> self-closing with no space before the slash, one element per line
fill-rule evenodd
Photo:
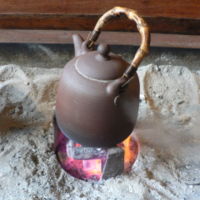
<path fill-rule="evenodd" d="M 1 14 L 101 15 L 114 6 L 146 17 L 200 19 L 199 0 L 0 0 Z"/>

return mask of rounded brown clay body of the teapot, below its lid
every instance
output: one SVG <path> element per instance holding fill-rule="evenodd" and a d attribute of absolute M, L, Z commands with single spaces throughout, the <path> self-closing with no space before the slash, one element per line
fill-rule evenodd
<path fill-rule="evenodd" d="M 136 123 L 139 107 L 137 73 L 116 98 L 114 93 L 107 92 L 112 80 L 83 76 L 75 67 L 77 59 L 75 57 L 66 64 L 59 82 L 56 97 L 58 126 L 71 140 L 85 146 L 116 145 L 131 134 Z"/>

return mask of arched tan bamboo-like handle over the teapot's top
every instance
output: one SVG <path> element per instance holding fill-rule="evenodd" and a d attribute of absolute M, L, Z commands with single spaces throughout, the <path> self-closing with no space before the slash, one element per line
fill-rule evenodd
<path fill-rule="evenodd" d="M 130 8 L 124 8 L 124 7 L 114 7 L 113 9 L 107 11 L 105 14 L 103 14 L 100 17 L 94 30 L 92 31 L 91 34 L 89 34 L 88 39 L 87 39 L 87 46 L 89 48 L 92 48 L 94 46 L 95 41 L 98 39 L 101 33 L 102 27 L 108 21 L 110 21 L 113 17 L 117 17 L 122 14 L 126 15 L 128 19 L 136 23 L 137 29 L 141 35 L 140 47 L 137 50 L 131 62 L 131 65 L 127 68 L 127 70 L 123 74 L 123 79 L 125 82 L 127 82 L 135 74 L 137 67 L 139 66 L 144 56 L 148 54 L 149 46 L 150 46 L 149 27 L 147 26 L 144 19 L 140 17 L 135 10 L 132 10 Z"/>

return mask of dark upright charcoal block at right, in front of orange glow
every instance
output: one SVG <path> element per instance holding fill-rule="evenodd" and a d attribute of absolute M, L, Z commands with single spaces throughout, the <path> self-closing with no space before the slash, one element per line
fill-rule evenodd
<path fill-rule="evenodd" d="M 107 150 L 107 159 L 103 168 L 101 179 L 108 179 L 123 173 L 124 151 L 120 147 L 112 147 Z"/>

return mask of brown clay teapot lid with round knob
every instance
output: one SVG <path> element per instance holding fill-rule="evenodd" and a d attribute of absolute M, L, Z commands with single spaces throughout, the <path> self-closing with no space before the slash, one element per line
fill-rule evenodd
<path fill-rule="evenodd" d="M 100 44 L 96 51 L 79 56 L 76 70 L 84 77 L 97 80 L 114 80 L 122 76 L 129 64 L 121 56 L 110 53 L 108 45 Z"/>

